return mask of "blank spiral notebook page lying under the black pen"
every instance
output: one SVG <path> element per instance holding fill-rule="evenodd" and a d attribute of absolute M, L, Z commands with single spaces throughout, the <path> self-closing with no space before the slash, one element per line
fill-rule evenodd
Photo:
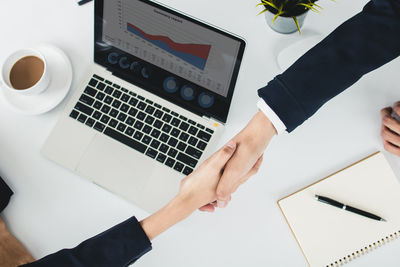
<path fill-rule="evenodd" d="M 323 195 L 386 222 L 318 202 Z M 400 183 L 377 152 L 278 201 L 308 264 L 338 266 L 400 236 Z"/>

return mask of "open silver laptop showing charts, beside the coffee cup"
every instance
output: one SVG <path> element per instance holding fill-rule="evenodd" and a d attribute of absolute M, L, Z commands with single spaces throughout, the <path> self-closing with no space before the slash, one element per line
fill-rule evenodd
<path fill-rule="evenodd" d="M 245 41 L 148 0 L 96 0 L 94 37 L 41 152 L 153 212 L 216 150 Z"/>

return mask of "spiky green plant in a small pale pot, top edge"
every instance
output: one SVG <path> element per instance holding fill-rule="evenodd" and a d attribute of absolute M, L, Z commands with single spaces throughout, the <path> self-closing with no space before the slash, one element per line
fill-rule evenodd
<path fill-rule="evenodd" d="M 263 6 L 268 25 L 280 33 L 299 31 L 309 10 L 319 13 L 322 9 L 317 0 L 261 0 L 257 6 Z"/>

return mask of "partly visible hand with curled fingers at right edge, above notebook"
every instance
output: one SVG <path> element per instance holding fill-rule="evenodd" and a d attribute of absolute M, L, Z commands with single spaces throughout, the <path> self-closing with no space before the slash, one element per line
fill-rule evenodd
<path fill-rule="evenodd" d="M 400 117 L 400 102 L 395 103 L 393 108 L 387 107 L 381 110 L 381 136 L 384 148 L 400 156 L 400 122 L 393 118 L 392 112 Z"/>

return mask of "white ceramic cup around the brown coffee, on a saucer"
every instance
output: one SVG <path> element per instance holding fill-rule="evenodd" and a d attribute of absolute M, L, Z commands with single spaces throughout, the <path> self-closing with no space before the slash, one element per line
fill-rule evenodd
<path fill-rule="evenodd" d="M 28 56 L 34 56 L 39 59 L 41 59 L 44 63 L 44 69 L 43 69 L 43 74 L 40 80 L 34 84 L 33 86 L 23 89 L 23 90 L 18 90 L 15 89 L 10 81 L 10 72 L 15 65 L 20 59 Z M 50 83 L 50 77 L 49 77 L 49 71 L 47 69 L 47 63 L 46 59 L 43 56 L 42 53 L 39 51 L 33 50 L 33 49 L 22 49 L 18 50 L 14 53 L 12 53 L 3 63 L 3 66 L 1 68 L 1 75 L 0 75 L 0 81 L 1 85 L 6 89 L 14 92 L 15 94 L 21 94 L 21 95 L 37 95 L 42 93 L 44 90 L 47 89 Z"/>

